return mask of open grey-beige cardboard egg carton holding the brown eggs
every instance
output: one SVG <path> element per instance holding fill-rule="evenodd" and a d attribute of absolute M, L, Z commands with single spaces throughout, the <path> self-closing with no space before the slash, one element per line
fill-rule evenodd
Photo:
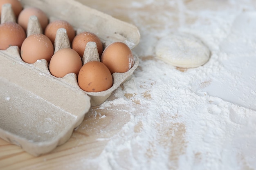
<path fill-rule="evenodd" d="M 120 41 L 133 49 L 139 43 L 136 26 L 74 0 L 20 2 L 23 7 L 40 8 L 50 20 L 66 20 L 77 33 L 90 31 L 96 34 L 104 47 Z M 8 14 L 1 16 L 1 23 L 13 20 L 13 11 L 5 11 Z M 37 22 L 37 18 L 30 18 L 27 35 L 42 31 Z M 57 31 L 54 46 L 55 52 L 70 47 L 65 29 Z M 70 138 L 91 106 L 102 104 L 132 75 L 139 64 L 139 59 L 134 57 L 134 65 L 129 71 L 112 74 L 111 88 L 102 92 L 85 92 L 79 87 L 74 73 L 62 78 L 54 77 L 46 60 L 25 63 L 18 46 L 0 50 L 0 137 L 34 156 L 54 150 Z M 83 64 L 91 60 L 99 60 L 94 42 L 87 44 Z"/>

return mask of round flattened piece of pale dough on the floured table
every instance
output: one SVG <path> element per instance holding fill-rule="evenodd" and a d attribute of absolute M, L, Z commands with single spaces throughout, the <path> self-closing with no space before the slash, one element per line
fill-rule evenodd
<path fill-rule="evenodd" d="M 173 66 L 193 68 L 202 66 L 210 58 L 210 50 L 193 35 L 172 34 L 159 40 L 156 57 Z"/>

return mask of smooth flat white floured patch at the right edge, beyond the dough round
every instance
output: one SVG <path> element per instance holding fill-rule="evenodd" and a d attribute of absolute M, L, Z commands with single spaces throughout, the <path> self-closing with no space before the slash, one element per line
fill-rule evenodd
<path fill-rule="evenodd" d="M 220 43 L 221 75 L 199 91 L 228 102 L 256 110 L 256 12 L 244 11 L 232 23 L 229 34 Z"/>

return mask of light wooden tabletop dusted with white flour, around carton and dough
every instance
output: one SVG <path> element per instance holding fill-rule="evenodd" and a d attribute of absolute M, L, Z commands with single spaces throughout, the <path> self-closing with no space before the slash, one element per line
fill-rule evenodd
<path fill-rule="evenodd" d="M 256 2 L 80 1 L 139 28 L 139 66 L 52 153 L 1 140 L 1 169 L 256 170 Z M 200 38 L 209 61 L 157 60 L 158 40 L 175 32 Z"/>

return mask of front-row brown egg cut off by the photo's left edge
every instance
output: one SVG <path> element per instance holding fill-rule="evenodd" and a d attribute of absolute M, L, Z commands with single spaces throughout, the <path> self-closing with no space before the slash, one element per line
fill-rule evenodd
<path fill-rule="evenodd" d="M 25 38 L 26 33 L 19 24 L 15 22 L 0 24 L 0 50 L 5 50 L 9 46 L 20 48 Z"/>

